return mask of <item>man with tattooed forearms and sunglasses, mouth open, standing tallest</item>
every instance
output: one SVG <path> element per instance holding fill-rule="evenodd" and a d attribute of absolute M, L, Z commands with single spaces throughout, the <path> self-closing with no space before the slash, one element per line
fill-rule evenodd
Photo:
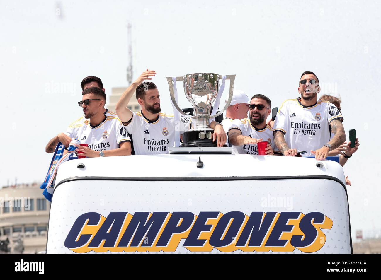
<path fill-rule="evenodd" d="M 343 116 L 334 104 L 317 101 L 320 86 L 313 72 L 301 75 L 298 91 L 301 97 L 287 99 L 278 110 L 275 145 L 283 155 L 295 156 L 299 150 L 307 152 L 304 156 L 323 160 L 345 141 Z M 330 132 L 335 134 L 332 139 Z"/>

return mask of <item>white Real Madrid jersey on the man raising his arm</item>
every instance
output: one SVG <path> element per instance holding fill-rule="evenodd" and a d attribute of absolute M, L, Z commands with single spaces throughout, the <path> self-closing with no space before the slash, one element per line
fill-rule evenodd
<path fill-rule="evenodd" d="M 143 113 L 132 112 L 132 119 L 125 127 L 130 134 L 135 155 L 168 154 L 168 147 L 174 144 L 173 115 L 158 113 L 154 121 Z"/>

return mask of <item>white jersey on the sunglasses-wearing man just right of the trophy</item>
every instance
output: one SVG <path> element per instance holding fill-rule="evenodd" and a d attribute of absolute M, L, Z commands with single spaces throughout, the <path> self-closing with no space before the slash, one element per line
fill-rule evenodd
<path fill-rule="evenodd" d="M 256 128 L 253 126 L 248 118 L 242 120 L 234 120 L 229 130 L 239 129 L 242 135 L 249 136 L 251 138 L 260 139 L 262 141 L 268 141 L 271 143 L 271 147 L 274 150 L 274 138 L 272 135 L 272 128 L 266 125 L 263 128 Z M 229 133 L 229 132 L 228 132 Z M 245 144 L 243 146 L 232 146 L 232 154 L 248 154 L 258 155 L 257 144 Z"/>

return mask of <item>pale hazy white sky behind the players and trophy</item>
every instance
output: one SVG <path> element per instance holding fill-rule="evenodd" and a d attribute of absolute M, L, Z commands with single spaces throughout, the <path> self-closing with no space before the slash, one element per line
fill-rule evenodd
<path fill-rule="evenodd" d="M 83 77 L 100 77 L 107 96 L 127 86 L 131 22 L 134 78 L 146 68 L 157 71 L 163 112 L 172 111 L 166 76 L 236 74 L 235 88 L 265 94 L 279 107 L 298 97 L 302 72 L 315 72 L 321 93 L 343 99 L 344 128 L 360 140 L 344 166 L 352 181 L 352 234 L 381 228 L 380 2 L 2 0 L 1 6 L 0 186 L 15 177 L 44 179 L 46 143 L 82 115 Z M 180 107 L 187 107 L 180 95 Z"/>

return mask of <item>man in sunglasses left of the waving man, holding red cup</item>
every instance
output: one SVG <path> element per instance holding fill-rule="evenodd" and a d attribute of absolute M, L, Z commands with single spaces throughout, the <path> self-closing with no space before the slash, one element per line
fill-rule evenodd
<path fill-rule="evenodd" d="M 84 116 L 73 122 L 62 134 L 70 141 L 78 138 L 81 144 L 88 144 L 88 147 L 78 146 L 77 149 L 86 157 L 130 155 L 131 140 L 126 129 L 117 114 L 105 109 L 104 104 L 106 94 L 103 90 L 96 86 L 86 88 L 82 93 L 82 101 L 78 102 Z M 56 136 L 47 147 L 55 147 L 59 141 L 61 140 Z"/>

